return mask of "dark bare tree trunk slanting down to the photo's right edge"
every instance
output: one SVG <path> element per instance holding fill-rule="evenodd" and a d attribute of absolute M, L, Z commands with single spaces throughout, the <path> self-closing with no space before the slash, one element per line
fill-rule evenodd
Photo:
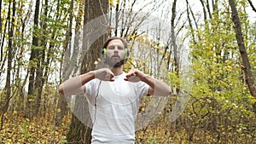
<path fill-rule="evenodd" d="M 251 95 L 253 95 L 253 97 L 256 98 L 255 79 L 253 77 L 251 65 L 247 56 L 247 49 L 245 47 L 242 32 L 241 32 L 241 22 L 240 22 L 239 14 L 236 9 L 236 3 L 234 0 L 229 0 L 229 3 L 232 10 L 232 20 L 235 24 L 236 41 L 238 43 L 239 51 L 241 54 L 243 72 L 245 74 L 246 83 L 250 90 Z M 256 112 L 256 103 L 253 103 L 253 107 L 254 107 L 254 112 Z"/>

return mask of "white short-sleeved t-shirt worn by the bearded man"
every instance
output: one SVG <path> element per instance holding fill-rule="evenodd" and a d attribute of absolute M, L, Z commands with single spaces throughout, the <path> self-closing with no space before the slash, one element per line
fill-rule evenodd
<path fill-rule="evenodd" d="M 113 82 L 93 79 L 85 84 L 93 123 L 92 144 L 135 142 L 139 101 L 148 94 L 148 84 L 127 82 L 125 72 Z"/>

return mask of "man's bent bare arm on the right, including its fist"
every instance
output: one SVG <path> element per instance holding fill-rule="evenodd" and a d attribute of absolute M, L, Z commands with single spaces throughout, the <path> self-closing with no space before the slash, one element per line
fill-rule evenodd
<path fill-rule="evenodd" d="M 152 78 L 137 69 L 131 69 L 127 73 L 125 80 L 131 82 L 143 81 L 148 84 L 148 95 L 168 96 L 172 94 L 172 89 L 166 83 Z"/>

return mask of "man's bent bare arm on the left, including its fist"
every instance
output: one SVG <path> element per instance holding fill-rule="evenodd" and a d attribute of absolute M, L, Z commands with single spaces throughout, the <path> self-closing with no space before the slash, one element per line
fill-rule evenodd
<path fill-rule="evenodd" d="M 81 95 L 84 94 L 86 90 L 84 84 L 94 78 L 98 78 L 103 81 L 113 81 L 113 72 L 108 68 L 90 71 L 78 77 L 68 79 L 59 86 L 58 90 L 62 95 Z"/>

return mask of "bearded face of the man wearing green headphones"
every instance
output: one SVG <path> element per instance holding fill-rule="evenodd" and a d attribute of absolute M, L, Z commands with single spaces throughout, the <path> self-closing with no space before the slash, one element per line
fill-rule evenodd
<path fill-rule="evenodd" d="M 119 67 L 124 64 L 125 45 L 119 39 L 113 39 L 107 46 L 107 64 L 112 67 Z"/>

